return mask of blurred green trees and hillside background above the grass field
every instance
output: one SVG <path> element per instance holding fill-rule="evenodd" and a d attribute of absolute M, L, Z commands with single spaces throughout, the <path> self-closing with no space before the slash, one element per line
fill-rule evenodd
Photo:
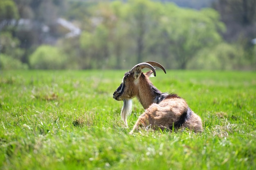
<path fill-rule="evenodd" d="M 0 68 L 256 70 L 256 0 L 0 0 Z"/>

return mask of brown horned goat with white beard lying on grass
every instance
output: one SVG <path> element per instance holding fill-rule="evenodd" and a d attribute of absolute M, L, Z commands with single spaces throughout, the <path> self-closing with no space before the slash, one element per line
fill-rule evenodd
<path fill-rule="evenodd" d="M 132 98 L 137 97 L 145 112 L 139 116 L 130 134 L 139 128 L 177 130 L 188 128 L 194 132 L 202 132 L 202 120 L 188 106 L 186 101 L 176 94 L 162 93 L 149 80 L 157 66 L 166 73 L 164 67 L 157 62 L 143 62 L 126 72 L 123 81 L 113 94 L 117 101 L 124 101 L 121 119 L 128 127 L 127 117 L 132 112 Z M 143 68 L 150 68 L 142 73 Z"/>

